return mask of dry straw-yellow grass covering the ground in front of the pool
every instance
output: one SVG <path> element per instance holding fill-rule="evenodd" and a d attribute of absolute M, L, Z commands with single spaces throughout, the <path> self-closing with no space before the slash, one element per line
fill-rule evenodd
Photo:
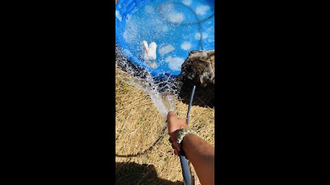
<path fill-rule="evenodd" d="M 184 184 L 179 158 L 168 142 L 167 130 L 163 132 L 165 118 L 141 90 L 120 78 L 129 75 L 118 68 L 115 73 L 116 184 Z M 177 101 L 175 112 L 180 118 L 186 117 L 187 109 L 187 104 Z M 189 125 L 214 146 L 214 108 L 192 106 Z M 117 156 L 144 151 L 160 136 L 140 156 Z"/>

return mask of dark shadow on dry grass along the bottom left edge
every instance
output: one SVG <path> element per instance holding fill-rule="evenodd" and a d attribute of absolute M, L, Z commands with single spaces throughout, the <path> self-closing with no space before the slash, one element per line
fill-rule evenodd
<path fill-rule="evenodd" d="M 184 185 L 184 182 L 172 182 L 159 178 L 155 167 L 152 164 L 115 162 L 115 184 Z"/>

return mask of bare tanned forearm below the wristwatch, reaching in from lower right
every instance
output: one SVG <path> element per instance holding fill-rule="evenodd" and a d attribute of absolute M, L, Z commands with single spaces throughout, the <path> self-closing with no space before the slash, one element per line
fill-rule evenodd
<path fill-rule="evenodd" d="M 201 184 L 214 184 L 214 147 L 194 134 L 187 134 L 181 145 Z"/>

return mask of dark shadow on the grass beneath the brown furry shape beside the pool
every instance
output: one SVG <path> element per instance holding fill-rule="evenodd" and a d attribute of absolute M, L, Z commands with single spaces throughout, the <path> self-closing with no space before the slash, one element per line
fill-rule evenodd
<path fill-rule="evenodd" d="M 179 99 L 186 104 L 189 104 L 192 87 L 195 85 L 195 95 L 192 100 L 192 106 L 214 108 L 214 84 L 208 84 L 202 88 L 199 84 L 192 82 L 190 79 L 184 79 L 183 85 L 179 92 Z"/>

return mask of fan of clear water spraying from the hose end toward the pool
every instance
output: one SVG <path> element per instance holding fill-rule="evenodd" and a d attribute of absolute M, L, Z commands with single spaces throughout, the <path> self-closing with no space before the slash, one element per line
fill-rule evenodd
<path fill-rule="evenodd" d="M 166 118 L 169 111 L 175 111 L 178 90 L 181 86 L 180 82 L 171 77 L 159 80 L 146 69 L 131 64 L 124 56 L 122 49 L 117 45 L 115 46 L 115 63 L 123 71 L 129 73 L 129 77 L 123 77 L 122 75 L 118 77 L 148 95 L 164 118 Z"/>

